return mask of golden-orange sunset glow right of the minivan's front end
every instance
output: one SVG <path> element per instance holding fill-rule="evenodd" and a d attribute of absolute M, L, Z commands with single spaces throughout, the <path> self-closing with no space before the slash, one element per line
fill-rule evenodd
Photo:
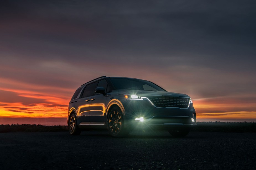
<path fill-rule="evenodd" d="M 197 99 L 193 101 L 198 119 L 246 119 L 256 120 L 253 97 L 228 96 Z"/>

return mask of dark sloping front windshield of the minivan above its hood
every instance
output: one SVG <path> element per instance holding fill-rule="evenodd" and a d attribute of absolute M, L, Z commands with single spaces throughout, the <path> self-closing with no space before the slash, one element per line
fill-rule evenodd
<path fill-rule="evenodd" d="M 126 90 L 150 90 L 150 91 L 165 91 L 161 87 L 146 80 L 132 78 L 110 78 L 116 89 Z"/>

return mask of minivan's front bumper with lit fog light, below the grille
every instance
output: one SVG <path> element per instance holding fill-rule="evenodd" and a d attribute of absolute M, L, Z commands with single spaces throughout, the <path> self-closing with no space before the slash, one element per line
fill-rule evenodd
<path fill-rule="evenodd" d="M 147 100 L 123 102 L 125 108 L 125 126 L 137 129 L 174 129 L 190 128 L 196 125 L 196 113 L 193 103 L 189 108 L 159 108 Z M 143 121 L 135 121 L 143 117 Z"/>

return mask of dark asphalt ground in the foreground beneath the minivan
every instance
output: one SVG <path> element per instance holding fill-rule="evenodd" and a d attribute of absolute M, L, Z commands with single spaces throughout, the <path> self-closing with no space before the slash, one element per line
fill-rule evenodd
<path fill-rule="evenodd" d="M 0 169 L 256 169 L 255 133 L 0 134 Z"/>

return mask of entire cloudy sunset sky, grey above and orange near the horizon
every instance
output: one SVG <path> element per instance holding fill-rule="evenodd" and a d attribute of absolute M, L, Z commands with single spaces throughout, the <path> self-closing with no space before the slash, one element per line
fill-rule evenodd
<path fill-rule="evenodd" d="M 66 117 L 80 85 L 140 78 L 198 119 L 256 121 L 255 1 L 1 1 L 0 117 Z"/>

